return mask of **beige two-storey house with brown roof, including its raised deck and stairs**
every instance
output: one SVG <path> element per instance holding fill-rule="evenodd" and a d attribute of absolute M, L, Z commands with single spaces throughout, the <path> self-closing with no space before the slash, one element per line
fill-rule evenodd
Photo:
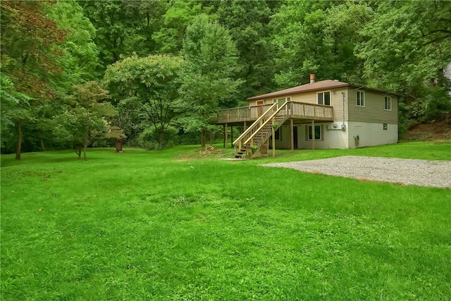
<path fill-rule="evenodd" d="M 222 110 L 217 124 L 240 126 L 235 156 L 273 149 L 351 149 L 397 142 L 400 95 L 338 80 L 250 97 L 249 106 Z M 271 138 L 271 139 L 270 139 Z M 225 138 L 227 141 L 227 137 Z"/>

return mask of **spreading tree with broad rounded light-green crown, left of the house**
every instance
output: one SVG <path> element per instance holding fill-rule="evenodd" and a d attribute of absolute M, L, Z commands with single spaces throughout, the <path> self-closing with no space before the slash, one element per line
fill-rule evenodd
<path fill-rule="evenodd" d="M 119 121 L 127 120 L 129 110 L 133 109 L 135 116 L 152 125 L 152 133 L 165 145 L 167 130 L 173 122 L 174 102 L 179 97 L 180 63 L 180 57 L 175 56 L 134 55 L 109 66 L 104 82 L 118 103 Z"/>

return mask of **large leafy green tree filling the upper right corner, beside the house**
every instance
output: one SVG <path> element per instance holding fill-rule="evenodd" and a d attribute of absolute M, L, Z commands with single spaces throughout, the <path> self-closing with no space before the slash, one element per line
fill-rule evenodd
<path fill-rule="evenodd" d="M 357 45 L 366 80 L 409 96 L 402 104 L 407 118 L 444 118 L 451 112 L 451 85 L 443 76 L 451 62 L 450 3 L 382 1 L 373 15 Z"/>

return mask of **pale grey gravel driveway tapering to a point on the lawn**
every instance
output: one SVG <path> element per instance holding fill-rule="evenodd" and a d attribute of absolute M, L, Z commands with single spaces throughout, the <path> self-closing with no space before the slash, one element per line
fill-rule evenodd
<path fill-rule="evenodd" d="M 405 185 L 451 188 L 451 161 L 338 156 L 330 159 L 264 164 L 310 173 Z"/>

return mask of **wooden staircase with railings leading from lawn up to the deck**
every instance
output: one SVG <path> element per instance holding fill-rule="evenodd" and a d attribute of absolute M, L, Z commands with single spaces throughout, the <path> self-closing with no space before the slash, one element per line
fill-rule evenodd
<path fill-rule="evenodd" d="M 289 108 L 290 102 L 285 102 L 280 106 L 273 104 L 262 113 L 257 121 L 252 123 L 233 142 L 235 158 L 252 159 L 254 154 L 259 151 L 261 145 L 290 117 Z"/>

